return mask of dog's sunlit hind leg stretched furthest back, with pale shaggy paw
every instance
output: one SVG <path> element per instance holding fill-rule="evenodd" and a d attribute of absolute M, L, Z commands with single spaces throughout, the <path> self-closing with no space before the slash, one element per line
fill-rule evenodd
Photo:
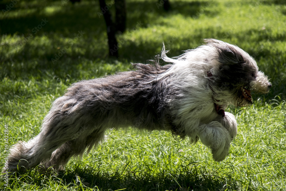
<path fill-rule="evenodd" d="M 49 112 L 43 121 L 39 135 L 28 142 L 19 142 L 11 148 L 8 172 L 23 173 L 29 168 L 49 160 L 54 150 L 72 140 L 71 137 L 78 132 L 79 127 L 75 128 L 74 121 L 70 118 L 58 111 Z M 74 120 L 76 120 L 75 117 Z"/>

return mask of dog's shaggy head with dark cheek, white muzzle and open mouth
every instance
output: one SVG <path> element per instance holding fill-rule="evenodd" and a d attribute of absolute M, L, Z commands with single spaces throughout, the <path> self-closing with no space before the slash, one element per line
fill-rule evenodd
<path fill-rule="evenodd" d="M 255 60 L 235 45 L 215 39 L 205 39 L 214 51 L 212 55 L 212 89 L 218 104 L 229 102 L 235 106 L 253 104 L 252 91 L 267 93 L 271 83 L 258 70 Z"/>

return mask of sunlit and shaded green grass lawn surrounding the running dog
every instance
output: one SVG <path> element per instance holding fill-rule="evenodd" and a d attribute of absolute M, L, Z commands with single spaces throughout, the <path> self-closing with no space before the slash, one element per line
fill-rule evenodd
<path fill-rule="evenodd" d="M 169 12 L 158 9 L 156 0 L 128 0 L 117 60 L 107 57 L 98 1 L 11 2 L 0 2 L 2 166 L 4 124 L 9 147 L 33 138 L 51 102 L 71 83 L 152 59 L 162 41 L 169 56 L 197 47 L 203 38 L 236 44 L 256 59 L 273 89 L 255 95 L 248 110 L 229 108 L 239 128 L 223 162 L 214 162 L 200 142 L 177 142 L 169 132 L 110 131 L 106 142 L 71 160 L 65 171 L 29 170 L 10 178 L 8 187 L 1 180 L 0 190 L 286 190 L 285 0 L 174 0 Z M 7 6 L 11 10 L 3 13 Z"/>

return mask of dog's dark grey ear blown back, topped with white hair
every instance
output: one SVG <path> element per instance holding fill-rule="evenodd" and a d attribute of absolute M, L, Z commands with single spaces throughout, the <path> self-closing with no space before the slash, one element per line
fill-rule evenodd
<path fill-rule="evenodd" d="M 217 39 L 204 39 L 207 45 L 217 49 L 216 59 L 222 64 L 237 64 L 244 61 L 243 55 L 237 51 L 234 45 L 230 45 Z"/>

